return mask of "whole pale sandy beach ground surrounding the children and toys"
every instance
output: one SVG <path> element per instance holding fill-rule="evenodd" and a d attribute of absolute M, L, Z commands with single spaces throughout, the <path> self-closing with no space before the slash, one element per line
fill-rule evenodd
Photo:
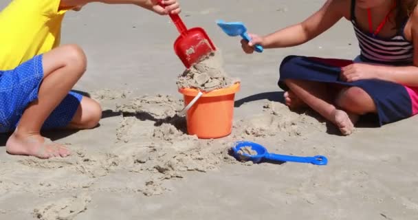
<path fill-rule="evenodd" d="M 176 85 L 184 66 L 173 51 L 179 34 L 168 17 L 100 3 L 68 12 L 62 43 L 80 45 L 88 58 L 75 89 L 102 104 L 103 118 L 96 129 L 44 133 L 69 147 L 67 158 L 8 155 L 0 135 L 0 219 L 417 219 L 417 117 L 341 136 L 311 111 L 290 111 L 276 84 L 289 54 L 357 56 L 349 21 L 305 45 L 252 55 L 215 23 L 243 21 L 268 34 L 323 2 L 181 1 L 186 25 L 208 32 L 225 72 L 241 82 L 232 134 L 214 140 L 167 120 L 184 107 Z M 228 150 L 240 140 L 329 163 L 238 162 Z"/>

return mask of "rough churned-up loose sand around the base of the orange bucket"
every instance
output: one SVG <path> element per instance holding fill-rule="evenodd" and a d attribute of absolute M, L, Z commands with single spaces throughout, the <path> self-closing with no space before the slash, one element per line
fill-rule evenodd
<path fill-rule="evenodd" d="M 121 98 L 124 97 L 118 95 L 115 102 L 120 103 Z M 156 95 L 124 101 L 125 104 L 117 107 L 120 124 L 115 129 L 113 148 L 99 151 L 96 146 L 72 145 L 69 148 L 73 154 L 66 158 L 13 157 L 17 163 L 8 162 L 0 167 L 0 174 L 5 174 L 0 180 L 0 192 L 31 192 L 46 198 L 43 205 L 32 207 L 37 219 L 74 219 L 88 208 L 88 195 L 94 192 L 161 195 L 170 190 L 167 181 L 184 179 L 187 172 L 206 173 L 224 164 L 252 165 L 230 155 L 230 148 L 237 140 L 261 143 L 266 137 L 273 137 L 278 146 L 285 146 L 281 143 L 309 135 L 313 130 L 326 129 L 305 113 L 293 113 L 284 104 L 267 102 L 260 107 L 259 115 L 235 120 L 232 135 L 199 140 L 186 133 L 185 118 L 176 115 L 183 107 L 183 100 Z M 277 150 L 266 147 L 272 152 Z M 15 176 L 28 173 L 51 178 L 15 180 Z M 79 190 L 87 194 L 73 193 Z M 56 192 L 77 196 L 57 200 Z"/>

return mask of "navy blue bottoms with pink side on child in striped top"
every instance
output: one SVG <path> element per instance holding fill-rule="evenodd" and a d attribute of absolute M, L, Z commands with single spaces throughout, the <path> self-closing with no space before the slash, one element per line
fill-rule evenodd
<path fill-rule="evenodd" d="M 384 80 L 358 80 L 347 83 L 340 80 L 341 67 L 353 63 L 351 60 L 318 58 L 311 56 L 287 56 L 280 65 L 278 86 L 289 89 L 284 80 L 309 80 L 333 83 L 347 87 L 360 87 L 373 99 L 377 114 L 371 114 L 382 126 L 410 118 L 418 113 L 418 88 L 406 87 Z"/>

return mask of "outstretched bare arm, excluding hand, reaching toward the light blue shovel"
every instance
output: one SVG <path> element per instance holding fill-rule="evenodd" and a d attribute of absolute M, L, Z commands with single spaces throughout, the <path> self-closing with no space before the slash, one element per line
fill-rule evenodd
<path fill-rule="evenodd" d="M 305 21 L 264 36 L 260 39 L 261 42 L 253 42 L 250 45 L 259 43 L 265 48 L 277 48 L 306 43 L 331 28 L 344 14 L 347 14 L 344 13 L 344 10 L 350 8 L 347 2 L 349 1 L 327 0 L 320 10 Z"/>

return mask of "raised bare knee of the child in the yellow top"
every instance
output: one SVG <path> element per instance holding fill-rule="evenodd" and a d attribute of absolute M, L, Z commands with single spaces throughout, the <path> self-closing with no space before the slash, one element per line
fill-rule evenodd
<path fill-rule="evenodd" d="M 66 62 L 84 73 L 87 68 L 87 56 L 81 47 L 75 44 L 63 45 L 66 54 Z"/>

